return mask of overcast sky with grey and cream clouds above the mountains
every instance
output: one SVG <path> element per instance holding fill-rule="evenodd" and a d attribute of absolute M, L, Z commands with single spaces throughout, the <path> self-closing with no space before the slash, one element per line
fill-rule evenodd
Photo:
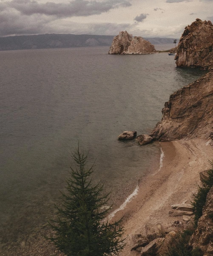
<path fill-rule="evenodd" d="M 213 0 L 0 0 L 0 36 L 70 33 L 180 38 Z"/>

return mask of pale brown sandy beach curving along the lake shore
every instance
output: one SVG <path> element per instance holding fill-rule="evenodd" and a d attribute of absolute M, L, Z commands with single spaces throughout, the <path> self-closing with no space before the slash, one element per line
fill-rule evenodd
<path fill-rule="evenodd" d="M 123 210 L 118 211 L 112 221 L 124 216 L 126 247 L 120 256 L 136 255 L 131 251 L 132 236 L 145 233 L 145 224 L 161 223 L 166 231 L 185 227 L 181 217 L 170 217 L 172 204 L 190 203 L 197 184 L 199 172 L 210 167 L 213 147 L 202 139 L 179 140 L 160 143 L 164 153 L 162 167 L 155 166 L 139 183 L 138 194 Z M 156 159 L 159 163 L 159 159 Z M 173 227 L 176 220 L 183 226 Z"/>

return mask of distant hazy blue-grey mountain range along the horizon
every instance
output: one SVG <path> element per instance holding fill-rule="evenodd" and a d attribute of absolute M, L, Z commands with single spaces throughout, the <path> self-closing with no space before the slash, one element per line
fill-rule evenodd
<path fill-rule="evenodd" d="M 45 34 L 0 38 L 0 51 L 70 47 L 110 46 L 114 35 Z M 173 38 L 145 38 L 151 44 L 173 44 Z"/>

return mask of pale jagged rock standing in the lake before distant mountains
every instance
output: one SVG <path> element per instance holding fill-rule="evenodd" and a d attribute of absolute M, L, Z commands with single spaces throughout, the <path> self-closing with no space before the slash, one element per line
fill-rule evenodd
<path fill-rule="evenodd" d="M 132 37 L 126 31 L 115 36 L 109 54 L 148 54 L 155 53 L 155 47 L 142 37 Z"/>

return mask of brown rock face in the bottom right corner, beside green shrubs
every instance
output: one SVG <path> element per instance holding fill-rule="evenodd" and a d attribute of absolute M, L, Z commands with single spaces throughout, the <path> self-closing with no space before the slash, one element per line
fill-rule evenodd
<path fill-rule="evenodd" d="M 206 198 L 203 215 L 198 221 L 198 227 L 190 239 L 193 248 L 199 247 L 203 253 L 213 255 L 213 187 Z"/>

